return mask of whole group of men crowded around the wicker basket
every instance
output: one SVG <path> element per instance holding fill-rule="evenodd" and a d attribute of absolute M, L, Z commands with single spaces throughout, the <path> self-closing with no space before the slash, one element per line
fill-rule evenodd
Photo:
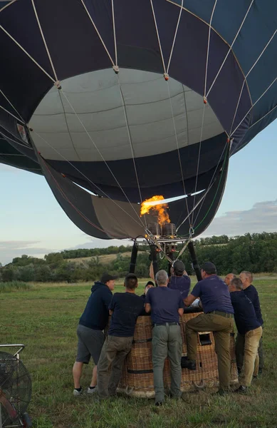
<path fill-rule="evenodd" d="M 181 260 L 173 263 L 170 277 L 165 270 L 157 272 L 156 287 L 154 282 L 147 282 L 142 296 L 135 294 L 138 282 L 134 274 L 125 277 L 125 292 L 113 294 L 116 279 L 113 275 L 104 274 L 100 281 L 95 282 L 77 328 L 78 352 L 73 366 L 73 394 L 82 394 L 80 378 L 83 364 L 88 364 L 92 357 L 95 366 L 88 394 L 98 392 L 99 399 L 115 396 L 140 315 L 150 315 L 152 319 L 152 365 L 157 406 L 164 402 L 163 370 L 167 356 L 172 397 L 182 395 L 182 369 L 199 369 L 199 332 L 211 331 L 214 334 L 219 370 L 217 394 L 231 391 L 230 335 L 234 331 L 234 320 L 238 330 L 236 362 L 241 374 L 241 384 L 235 392 L 246 393 L 252 377 L 261 374 L 263 367 L 263 320 L 258 292 L 251 285 L 252 275 L 250 272 L 241 272 L 239 277 L 229 274 L 223 281 L 216 275 L 215 265 L 210 262 L 204 263 L 201 272 L 202 280 L 197 282 L 190 294 L 190 278 Z M 150 276 L 154 279 L 152 267 Z M 182 357 L 179 317 L 182 317 L 184 307 L 193 305 L 198 299 L 203 313 L 186 323 L 187 356 Z M 105 338 L 109 315 L 110 325 Z"/>

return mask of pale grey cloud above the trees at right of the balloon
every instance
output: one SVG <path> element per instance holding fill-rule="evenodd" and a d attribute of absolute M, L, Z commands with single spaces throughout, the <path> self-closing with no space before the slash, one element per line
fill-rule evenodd
<path fill-rule="evenodd" d="M 202 236 L 277 232 L 277 199 L 258 202 L 250 210 L 234 210 L 214 218 Z"/>

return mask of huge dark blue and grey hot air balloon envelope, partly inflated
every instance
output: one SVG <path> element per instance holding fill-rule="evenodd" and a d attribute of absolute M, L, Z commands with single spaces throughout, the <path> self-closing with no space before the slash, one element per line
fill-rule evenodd
<path fill-rule="evenodd" d="M 230 156 L 277 116 L 276 1 L 0 8 L 0 162 L 44 175 L 88 235 L 157 244 L 202 233 Z M 140 213 L 157 195 L 162 228 Z"/>

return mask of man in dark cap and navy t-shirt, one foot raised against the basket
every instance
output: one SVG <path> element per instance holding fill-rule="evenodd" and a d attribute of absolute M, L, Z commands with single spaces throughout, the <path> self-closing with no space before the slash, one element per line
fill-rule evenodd
<path fill-rule="evenodd" d="M 189 306 L 197 297 L 200 297 L 204 314 L 192 318 L 186 324 L 187 358 L 182 367 L 197 370 L 198 332 L 212 331 L 218 359 L 218 393 L 224 394 L 229 391 L 230 385 L 230 333 L 234 329 L 234 309 L 228 287 L 216 275 L 214 263 L 204 263 L 201 273 L 202 281 L 197 282 L 192 293 L 184 300 L 184 304 Z"/>

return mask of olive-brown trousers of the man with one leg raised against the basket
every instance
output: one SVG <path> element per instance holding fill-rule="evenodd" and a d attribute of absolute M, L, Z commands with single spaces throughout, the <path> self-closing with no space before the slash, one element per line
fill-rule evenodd
<path fill-rule="evenodd" d="M 234 329 L 234 318 L 216 314 L 200 314 L 186 324 L 187 357 L 197 359 L 198 332 L 213 332 L 215 352 L 218 360 L 219 388 L 228 389 L 231 379 L 230 333 Z"/>

